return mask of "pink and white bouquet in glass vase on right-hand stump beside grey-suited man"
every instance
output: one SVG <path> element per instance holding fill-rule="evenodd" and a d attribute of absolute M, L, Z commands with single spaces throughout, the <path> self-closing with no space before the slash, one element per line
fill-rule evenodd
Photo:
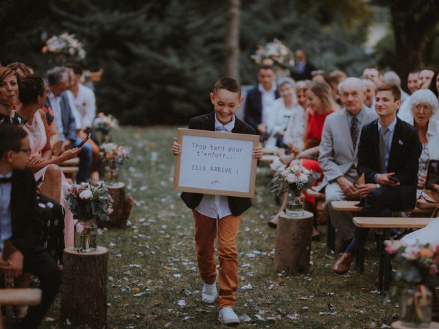
<path fill-rule="evenodd" d="M 313 182 L 320 178 L 320 173 L 308 170 L 301 165 L 288 167 L 287 169 L 278 168 L 272 180 L 272 192 L 276 197 L 282 197 L 288 193 L 289 199 L 285 212 L 293 217 L 303 215 L 303 203 L 300 195 L 303 191 L 313 186 Z"/>

